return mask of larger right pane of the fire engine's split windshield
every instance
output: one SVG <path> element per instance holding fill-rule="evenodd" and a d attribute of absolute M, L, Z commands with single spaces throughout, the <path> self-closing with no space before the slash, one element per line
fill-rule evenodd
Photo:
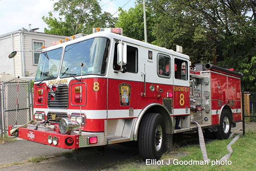
<path fill-rule="evenodd" d="M 109 43 L 109 39 L 97 37 L 68 45 L 64 51 L 61 77 L 76 76 L 81 73 L 105 75 Z"/>

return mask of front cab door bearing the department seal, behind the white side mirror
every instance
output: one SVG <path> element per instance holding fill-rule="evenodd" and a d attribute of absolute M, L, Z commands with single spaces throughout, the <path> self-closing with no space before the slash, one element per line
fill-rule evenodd
<path fill-rule="evenodd" d="M 125 41 L 124 41 L 125 42 Z M 138 56 L 140 46 L 127 44 L 127 62 L 120 72 L 117 65 L 117 45 L 113 42 L 108 71 L 108 119 L 135 118 L 140 101 L 140 73 Z"/>

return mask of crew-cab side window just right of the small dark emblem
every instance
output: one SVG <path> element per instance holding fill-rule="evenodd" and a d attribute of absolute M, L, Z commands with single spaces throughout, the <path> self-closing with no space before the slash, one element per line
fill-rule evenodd
<path fill-rule="evenodd" d="M 158 55 L 158 76 L 170 78 L 171 76 L 171 59 L 169 56 Z"/>

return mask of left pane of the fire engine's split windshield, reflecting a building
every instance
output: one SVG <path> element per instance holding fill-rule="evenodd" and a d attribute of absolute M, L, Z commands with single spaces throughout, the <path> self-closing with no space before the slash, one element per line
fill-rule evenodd
<path fill-rule="evenodd" d="M 62 48 L 40 54 L 35 81 L 57 78 L 61 63 Z"/>

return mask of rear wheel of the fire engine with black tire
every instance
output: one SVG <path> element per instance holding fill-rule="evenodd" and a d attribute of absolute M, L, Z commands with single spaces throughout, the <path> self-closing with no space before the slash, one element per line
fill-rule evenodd
<path fill-rule="evenodd" d="M 227 139 L 231 132 L 231 118 L 230 112 L 224 109 L 221 112 L 220 125 L 218 126 L 218 131 L 215 132 L 215 136 L 218 139 Z"/>

